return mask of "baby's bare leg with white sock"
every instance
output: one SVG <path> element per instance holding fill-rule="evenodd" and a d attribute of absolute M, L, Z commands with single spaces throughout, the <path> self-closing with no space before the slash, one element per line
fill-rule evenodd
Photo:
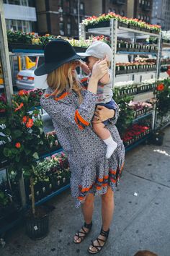
<path fill-rule="evenodd" d="M 117 143 L 112 139 L 109 130 L 101 122 L 99 124 L 93 124 L 94 132 L 104 141 L 107 145 L 106 158 L 110 158 L 112 153 L 117 148 Z"/>

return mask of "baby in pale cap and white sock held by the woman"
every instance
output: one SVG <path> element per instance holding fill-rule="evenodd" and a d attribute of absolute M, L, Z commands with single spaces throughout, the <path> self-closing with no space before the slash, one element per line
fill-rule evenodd
<path fill-rule="evenodd" d="M 85 63 L 81 63 L 81 69 L 86 72 L 86 74 L 91 73 L 94 64 L 96 61 L 100 59 L 107 59 L 108 65 L 108 72 L 104 74 L 104 77 L 99 80 L 98 87 L 97 87 L 97 106 L 105 106 L 109 109 L 115 109 L 115 101 L 112 99 L 112 71 L 109 69 L 110 61 L 112 60 L 112 50 L 102 41 L 95 41 L 91 43 L 91 46 L 87 48 L 84 54 L 81 56 L 85 57 Z M 97 118 L 94 118 L 94 121 L 97 121 Z M 117 143 L 112 139 L 112 136 L 107 129 L 106 125 L 108 120 L 100 122 L 100 123 L 93 123 L 94 132 L 104 141 L 107 145 L 107 153 L 106 158 L 110 158 L 114 150 L 117 148 Z"/>

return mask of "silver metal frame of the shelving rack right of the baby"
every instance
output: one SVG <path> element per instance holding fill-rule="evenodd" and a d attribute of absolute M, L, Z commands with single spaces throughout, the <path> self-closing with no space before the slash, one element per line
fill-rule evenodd
<path fill-rule="evenodd" d="M 161 33 L 156 34 L 156 33 L 148 33 L 146 31 L 140 31 L 140 30 L 134 30 L 132 28 L 128 27 L 122 27 L 121 25 L 118 25 L 117 20 L 110 19 L 109 21 L 109 26 L 108 27 L 94 27 L 94 28 L 89 28 L 87 31 L 85 30 L 84 24 L 79 25 L 79 37 L 86 39 L 86 33 L 91 33 L 95 35 L 106 35 L 109 36 L 111 40 L 111 48 L 112 48 L 112 63 L 111 63 L 111 69 L 112 69 L 112 85 L 113 85 L 113 90 L 114 90 L 114 85 L 115 85 L 115 77 L 116 76 L 124 76 L 124 75 L 134 75 L 135 74 L 141 74 L 141 73 L 148 73 L 148 72 L 154 72 L 155 73 L 155 79 L 158 79 L 159 72 L 160 72 L 160 55 L 161 55 Z M 158 52 L 140 52 L 140 51 L 117 51 L 117 38 L 133 38 L 133 43 L 140 38 L 146 38 L 146 36 L 151 35 L 152 37 L 158 38 Z M 156 70 L 155 71 L 143 71 L 143 72 L 133 72 L 132 73 L 127 73 L 127 74 L 116 74 L 116 55 L 117 54 L 140 54 L 140 55 L 146 55 L 146 54 L 157 54 L 157 63 L 156 63 Z M 138 101 L 142 101 L 144 98 L 147 98 L 147 93 L 149 93 L 149 98 L 151 96 L 153 97 L 153 93 L 151 92 L 146 92 L 142 93 L 142 95 L 134 95 L 135 98 L 138 98 Z M 147 98 L 147 99 L 149 99 Z M 146 115 L 148 116 L 148 114 Z M 140 119 L 144 118 L 145 115 L 141 116 Z M 155 118 L 156 118 L 156 108 L 154 106 L 153 112 L 152 112 L 152 129 L 154 129 L 154 124 L 155 124 Z M 147 136 L 148 137 L 148 136 Z M 138 145 L 138 143 L 136 144 Z M 130 147 L 127 148 L 129 150 Z"/>

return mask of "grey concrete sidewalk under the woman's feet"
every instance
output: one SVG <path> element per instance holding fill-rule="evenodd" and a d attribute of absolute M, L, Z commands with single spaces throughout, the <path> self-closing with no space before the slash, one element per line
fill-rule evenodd
<path fill-rule="evenodd" d="M 133 256 L 149 249 L 158 256 L 170 256 L 170 127 L 165 129 L 163 146 L 140 145 L 126 155 L 125 168 L 115 193 L 115 215 L 109 239 L 98 255 Z M 138 193 L 137 196 L 134 192 Z M 81 244 L 73 235 L 83 224 L 81 209 L 74 208 L 69 189 L 50 201 L 50 232 L 34 242 L 24 228 L 12 231 L 2 256 L 85 256 L 91 239 L 101 228 L 100 198 L 96 197 L 94 226 Z"/>

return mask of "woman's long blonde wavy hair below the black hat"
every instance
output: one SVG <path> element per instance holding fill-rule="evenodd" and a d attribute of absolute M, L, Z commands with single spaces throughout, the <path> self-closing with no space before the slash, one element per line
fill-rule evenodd
<path fill-rule="evenodd" d="M 63 93 L 64 90 L 69 92 L 73 90 L 77 95 L 79 95 L 79 101 L 82 101 L 81 90 L 83 90 L 83 88 L 81 88 L 77 79 L 76 71 L 74 70 L 75 67 L 76 61 L 68 62 L 48 74 L 48 86 L 54 90 L 50 95 L 56 96 Z"/>

